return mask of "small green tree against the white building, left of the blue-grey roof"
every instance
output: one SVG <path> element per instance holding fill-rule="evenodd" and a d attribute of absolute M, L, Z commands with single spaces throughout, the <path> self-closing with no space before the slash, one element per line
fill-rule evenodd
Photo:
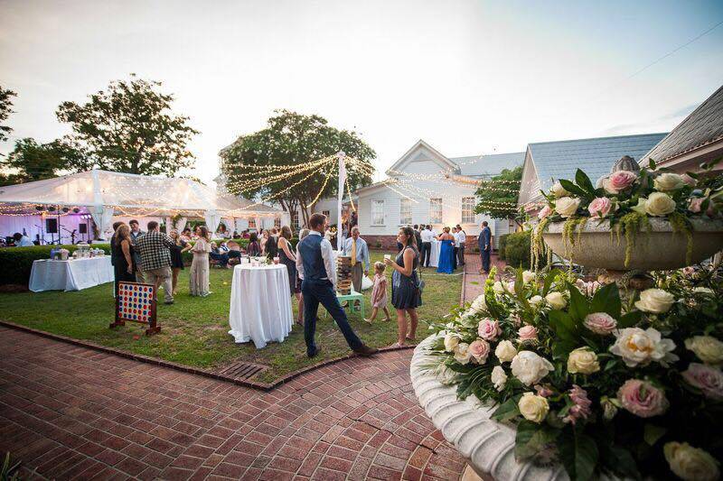
<path fill-rule="evenodd" d="M 486 214 L 493 218 L 517 217 L 517 198 L 520 196 L 522 166 L 504 169 L 500 175 L 483 180 L 474 195 L 478 202 L 475 214 Z"/>

